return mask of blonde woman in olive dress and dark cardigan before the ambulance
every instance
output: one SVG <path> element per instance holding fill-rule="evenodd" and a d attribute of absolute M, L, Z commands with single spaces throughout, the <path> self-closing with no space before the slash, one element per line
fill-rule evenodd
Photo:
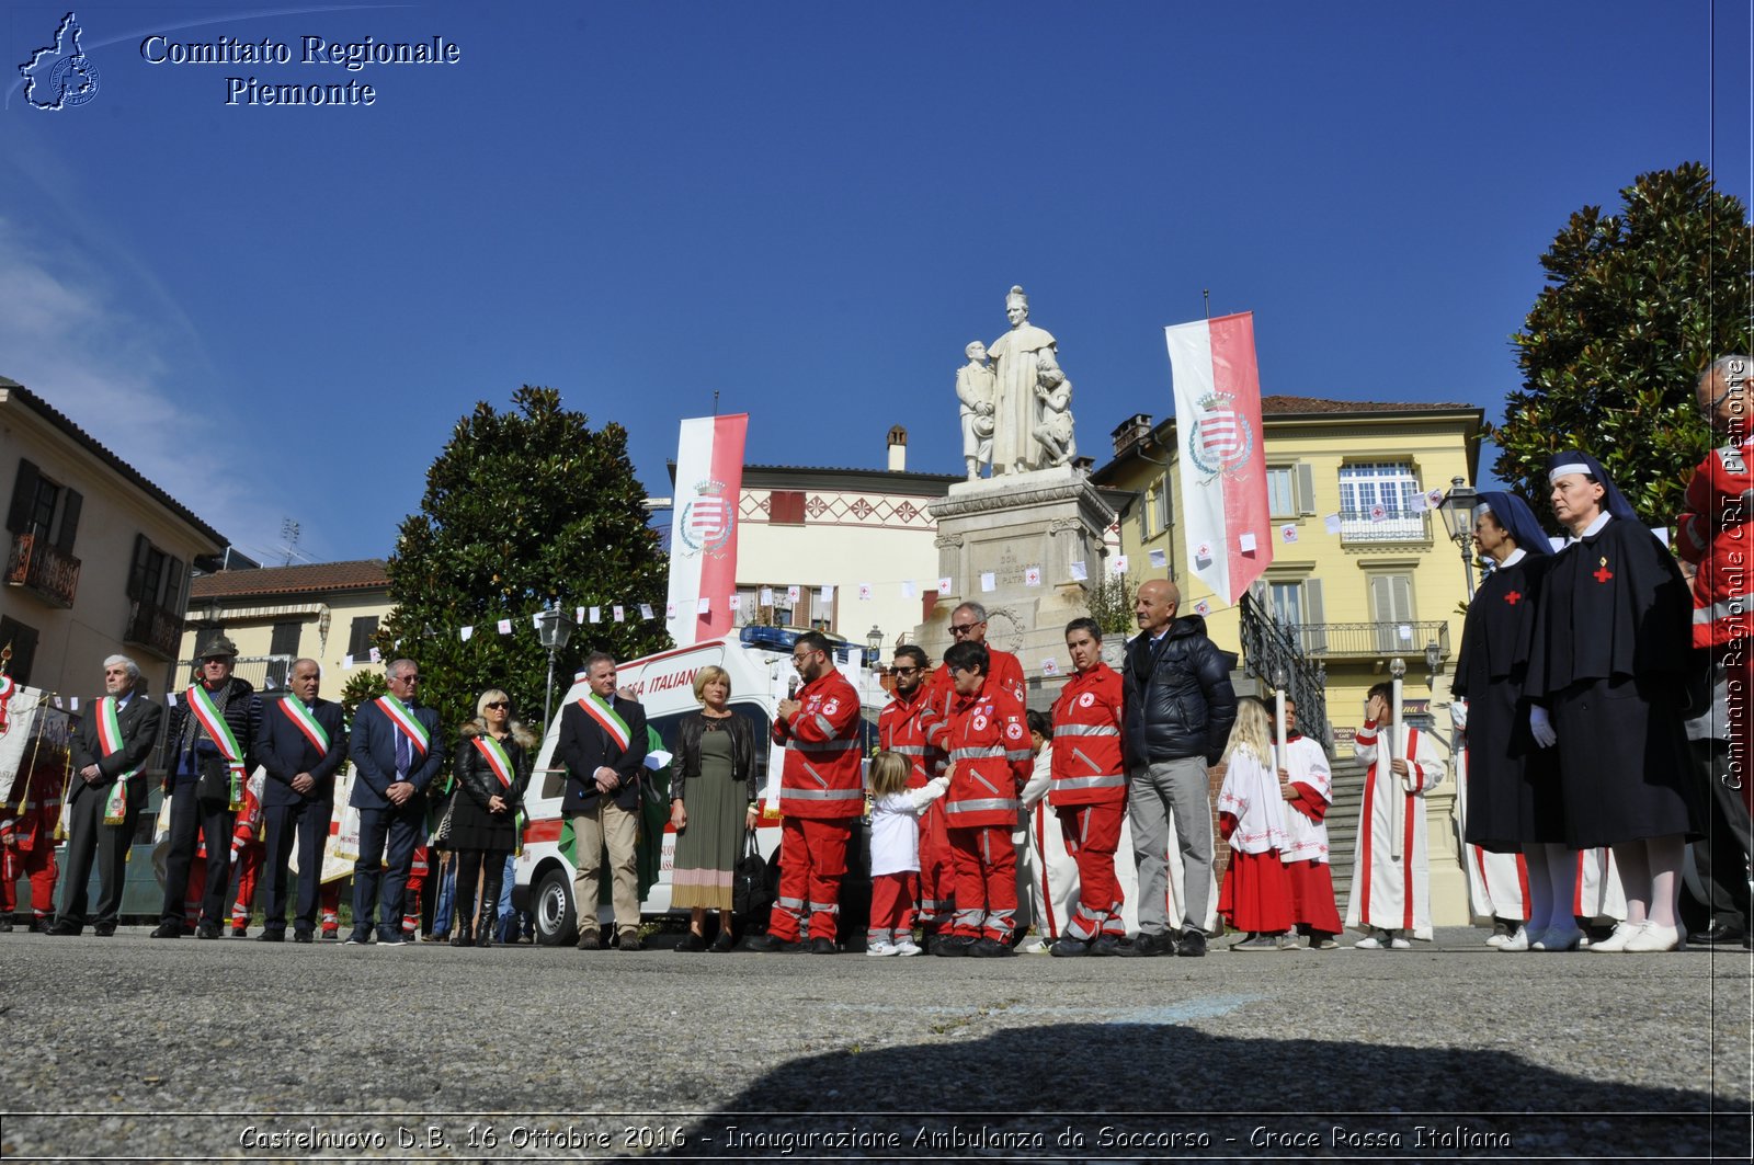
<path fill-rule="evenodd" d="M 756 739 L 749 721 L 731 711 L 731 677 L 723 667 L 695 674 L 700 711 L 677 726 L 670 784 L 670 825 L 675 863 L 670 905 L 693 912 L 677 951 L 705 951 L 707 911 L 719 912 L 712 951 L 731 949 L 731 872 L 744 832 L 756 828 Z"/>

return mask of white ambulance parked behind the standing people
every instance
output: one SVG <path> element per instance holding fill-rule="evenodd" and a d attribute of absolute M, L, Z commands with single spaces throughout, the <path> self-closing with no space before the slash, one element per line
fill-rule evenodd
<path fill-rule="evenodd" d="M 616 667 L 616 683 L 623 693 L 645 709 L 645 723 L 658 732 L 665 753 L 675 751 L 677 728 L 682 718 L 700 711 L 695 700 L 695 675 L 700 668 L 723 667 L 731 677 L 731 712 L 744 716 L 756 739 L 756 784 L 765 790 L 756 844 L 770 863 L 779 858 L 779 779 L 782 751 L 774 744 L 774 714 L 788 697 L 798 672 L 791 665 L 791 649 L 805 628 L 745 626 L 735 635 L 709 639 L 691 647 L 661 651 Z M 877 744 L 877 714 L 889 700 L 877 674 L 868 667 L 865 647 L 849 644 L 837 635 L 835 667 L 859 693 L 863 705 L 861 751 L 870 756 Z M 589 688 L 584 677 L 574 677 L 560 709 L 582 700 Z M 512 888 L 512 905 L 535 916 L 537 942 L 544 946 L 570 944 L 577 939 L 579 904 L 572 895 L 574 840 L 572 825 L 561 814 L 561 795 L 567 788 L 567 767 L 554 756 L 560 744 L 560 718 L 554 712 L 542 747 L 537 753 L 530 791 L 524 795 L 524 846 L 517 854 L 517 881 Z M 647 761 L 652 768 L 658 761 Z M 675 853 L 675 830 L 670 828 L 668 768 L 647 772 L 642 781 L 640 849 L 649 861 L 649 847 L 658 846 L 658 879 L 640 902 L 642 914 L 670 911 L 670 870 Z M 658 823 L 663 821 L 661 833 Z M 865 830 L 854 832 L 847 847 L 847 876 L 842 881 L 842 933 L 854 933 L 847 921 L 865 916 L 870 902 Z M 682 909 L 682 907 L 679 907 Z M 614 930 L 614 912 L 609 905 L 609 870 L 602 876 L 602 902 L 596 905 L 605 932 Z M 765 925 L 766 919 L 759 919 Z M 863 921 L 859 923 L 863 932 Z"/>

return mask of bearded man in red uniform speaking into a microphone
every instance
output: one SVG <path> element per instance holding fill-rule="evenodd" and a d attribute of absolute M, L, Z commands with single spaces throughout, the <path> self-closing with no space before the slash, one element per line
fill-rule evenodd
<path fill-rule="evenodd" d="M 786 746 L 779 897 L 768 932 L 745 939 L 744 949 L 837 954 L 840 876 L 852 826 L 865 812 L 859 693 L 835 670 L 833 646 L 819 632 L 798 637 L 791 663 L 803 688 L 779 702 L 774 719 L 774 744 Z"/>

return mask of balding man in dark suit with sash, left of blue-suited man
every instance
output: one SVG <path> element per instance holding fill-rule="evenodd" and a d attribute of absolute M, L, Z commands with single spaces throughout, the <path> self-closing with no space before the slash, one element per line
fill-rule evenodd
<path fill-rule="evenodd" d="M 298 905 L 293 942 L 310 942 L 317 928 L 323 847 L 328 844 L 335 802 L 335 770 L 347 758 L 347 728 L 340 705 L 319 700 L 321 667 L 293 660 L 291 695 L 265 702 L 254 760 L 261 765 L 263 893 L 268 919 L 261 942 L 286 937 L 286 881 L 293 844 L 298 846 Z"/>

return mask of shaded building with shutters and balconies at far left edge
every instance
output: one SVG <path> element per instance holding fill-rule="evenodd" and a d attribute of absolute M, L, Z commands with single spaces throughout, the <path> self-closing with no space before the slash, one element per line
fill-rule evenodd
<path fill-rule="evenodd" d="M 0 377 L 7 558 L 0 646 L 11 674 L 47 691 L 102 693 L 103 658 L 175 683 L 191 565 L 226 540 L 70 418 Z"/>

